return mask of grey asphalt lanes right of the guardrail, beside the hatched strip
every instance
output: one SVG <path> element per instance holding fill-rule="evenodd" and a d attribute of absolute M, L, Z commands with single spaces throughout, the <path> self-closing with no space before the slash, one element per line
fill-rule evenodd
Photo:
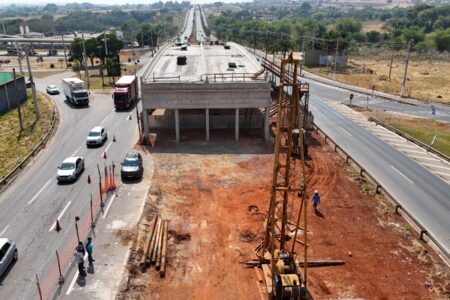
<path fill-rule="evenodd" d="M 333 89 L 312 89 L 314 122 L 362 165 L 450 252 L 450 185 L 417 162 L 331 109 Z"/>

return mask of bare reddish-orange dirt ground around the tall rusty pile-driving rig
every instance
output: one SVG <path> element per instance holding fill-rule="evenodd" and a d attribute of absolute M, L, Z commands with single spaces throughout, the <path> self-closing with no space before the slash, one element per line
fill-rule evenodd
<path fill-rule="evenodd" d="M 118 299 L 261 299 L 255 270 L 242 263 L 252 258 L 264 231 L 273 146 L 245 136 L 236 143 L 232 133 L 177 147 L 158 139 L 149 149 L 156 167 L 143 219 L 158 213 L 170 220 L 167 275 L 141 273 L 130 261 Z M 318 189 L 322 202 L 320 216 L 308 204 L 308 257 L 346 264 L 309 269 L 313 297 L 449 297 L 448 267 L 320 136 L 314 139 L 307 190 Z M 259 212 L 249 212 L 250 205 Z M 256 238 L 244 242 L 244 232 Z M 138 235 L 120 234 L 124 243 Z"/>

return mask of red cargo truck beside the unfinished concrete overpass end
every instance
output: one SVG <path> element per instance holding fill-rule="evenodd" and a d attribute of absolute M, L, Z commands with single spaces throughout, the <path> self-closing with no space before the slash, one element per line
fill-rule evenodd
<path fill-rule="evenodd" d="M 136 76 L 127 75 L 120 77 L 115 84 L 112 96 L 116 109 L 131 107 L 138 97 Z"/>

